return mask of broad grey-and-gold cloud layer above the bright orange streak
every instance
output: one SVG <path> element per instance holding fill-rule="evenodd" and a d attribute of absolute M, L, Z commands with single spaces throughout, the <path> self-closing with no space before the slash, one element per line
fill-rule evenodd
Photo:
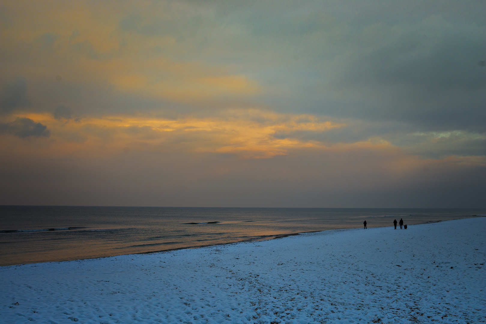
<path fill-rule="evenodd" d="M 42 102 L 36 111 L 62 103 L 80 115 L 178 115 L 257 102 L 479 131 L 486 30 L 473 7 L 147 1 L 107 18 L 115 10 L 108 2 L 59 2 L 44 19 L 35 6 L 11 4 L 17 23 L 4 33 L 2 58 L 10 72 L 25 71 L 32 100 Z M 32 19 L 35 30 L 25 23 Z"/>

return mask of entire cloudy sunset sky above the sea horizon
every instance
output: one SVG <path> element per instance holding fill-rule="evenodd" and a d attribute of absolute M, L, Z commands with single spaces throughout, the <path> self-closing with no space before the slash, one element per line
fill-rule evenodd
<path fill-rule="evenodd" d="M 486 207 L 485 12 L 0 0 L 0 205 Z"/>

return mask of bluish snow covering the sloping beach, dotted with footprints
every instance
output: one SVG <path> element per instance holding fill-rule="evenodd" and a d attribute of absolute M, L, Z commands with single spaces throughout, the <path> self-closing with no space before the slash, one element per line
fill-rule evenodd
<path fill-rule="evenodd" d="M 0 268 L 1 323 L 486 323 L 486 218 Z"/>

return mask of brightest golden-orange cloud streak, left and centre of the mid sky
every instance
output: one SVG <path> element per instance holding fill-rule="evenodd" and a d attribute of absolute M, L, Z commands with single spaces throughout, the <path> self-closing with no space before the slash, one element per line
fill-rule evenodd
<path fill-rule="evenodd" d="M 187 150 L 234 154 L 241 158 L 271 158 L 289 149 L 321 147 L 322 143 L 297 138 L 278 138 L 277 132 L 325 132 L 343 127 L 310 115 L 230 110 L 208 118 L 179 119 L 109 116 L 57 120 L 50 114 L 23 114 L 47 125 L 53 147 L 61 152 L 121 152 L 124 147 L 143 150 Z M 62 149 L 60 149 L 62 147 Z M 71 147 L 72 149 L 69 149 Z"/>

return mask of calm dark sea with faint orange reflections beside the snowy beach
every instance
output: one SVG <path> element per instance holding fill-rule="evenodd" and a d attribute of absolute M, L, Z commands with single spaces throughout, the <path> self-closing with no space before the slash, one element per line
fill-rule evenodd
<path fill-rule="evenodd" d="M 165 251 L 339 228 L 484 215 L 481 209 L 0 206 L 0 266 Z M 409 228 L 408 230 L 413 230 Z"/>

